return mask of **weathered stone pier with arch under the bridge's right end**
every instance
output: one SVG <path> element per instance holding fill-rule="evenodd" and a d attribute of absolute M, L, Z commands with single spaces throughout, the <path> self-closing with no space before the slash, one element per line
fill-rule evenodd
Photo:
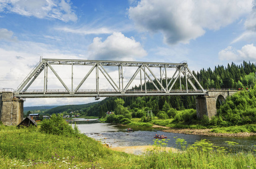
<path fill-rule="evenodd" d="M 207 115 L 211 119 L 217 114 L 216 102 L 222 104 L 228 96 L 236 92 L 236 90 L 214 90 L 208 91 L 207 96 L 198 96 L 196 99 L 197 118 L 202 119 L 203 115 Z"/>

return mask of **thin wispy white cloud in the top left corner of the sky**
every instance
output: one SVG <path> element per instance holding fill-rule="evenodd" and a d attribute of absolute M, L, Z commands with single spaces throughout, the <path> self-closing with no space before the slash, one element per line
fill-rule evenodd
<path fill-rule="evenodd" d="M 40 19 L 54 18 L 64 22 L 77 20 L 76 14 L 71 10 L 70 0 L 7 0 L 0 2 L 0 11 Z"/>

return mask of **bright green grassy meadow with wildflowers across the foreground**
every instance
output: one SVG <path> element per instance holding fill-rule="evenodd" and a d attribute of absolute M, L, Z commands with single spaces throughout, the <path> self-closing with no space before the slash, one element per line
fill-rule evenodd
<path fill-rule="evenodd" d="M 42 134 L 36 127 L 0 126 L 0 136 L 0 168 L 256 168 L 255 153 L 216 151 L 207 141 L 179 153 L 160 152 L 156 146 L 157 151 L 132 155 L 114 152 L 85 135 Z"/>

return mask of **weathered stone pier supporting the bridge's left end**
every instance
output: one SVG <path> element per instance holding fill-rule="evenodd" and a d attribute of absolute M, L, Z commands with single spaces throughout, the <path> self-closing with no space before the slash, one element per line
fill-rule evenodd
<path fill-rule="evenodd" d="M 0 120 L 6 126 L 16 126 L 23 121 L 22 99 L 14 97 L 14 92 L 0 93 Z"/>

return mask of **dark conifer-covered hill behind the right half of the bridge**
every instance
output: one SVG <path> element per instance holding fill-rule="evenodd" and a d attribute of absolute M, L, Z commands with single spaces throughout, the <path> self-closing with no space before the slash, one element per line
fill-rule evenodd
<path fill-rule="evenodd" d="M 193 71 L 193 74 L 205 89 L 228 88 L 237 90 L 238 88 L 253 87 L 255 84 L 255 72 L 255 64 L 244 61 L 240 65 L 232 63 L 227 66 L 215 66 L 214 70 L 208 68 L 202 69 L 197 73 Z M 181 78 L 181 81 L 185 84 L 185 78 Z M 165 85 L 166 84 L 164 84 L 163 81 L 163 86 Z M 153 89 L 154 87 L 151 82 L 147 82 L 146 86 L 148 90 Z M 176 82 L 173 86 L 174 89 L 179 89 L 179 87 L 179 82 Z M 144 88 L 144 86 L 142 86 L 142 88 Z M 183 85 L 182 88 L 185 89 Z M 140 86 L 135 86 L 133 89 L 140 90 Z M 154 114 L 157 114 L 160 110 L 164 111 L 167 105 L 177 110 L 190 108 L 196 109 L 196 100 L 194 96 L 147 96 L 121 98 L 125 102 L 124 106 L 133 114 L 133 117 L 133 112 L 138 112 L 138 110 L 141 110 L 142 114 L 147 112 L 147 110 L 152 110 Z M 107 111 L 114 111 L 116 109 L 115 99 L 116 97 L 110 97 L 102 100 L 101 103 L 84 109 L 84 113 L 92 116 L 105 116 Z"/>

